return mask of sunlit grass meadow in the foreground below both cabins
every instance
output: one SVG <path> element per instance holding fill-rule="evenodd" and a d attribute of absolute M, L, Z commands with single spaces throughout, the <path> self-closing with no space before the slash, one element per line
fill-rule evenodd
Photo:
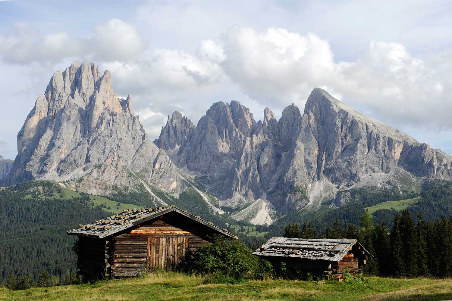
<path fill-rule="evenodd" d="M 204 284 L 204 278 L 182 273 L 147 274 L 135 279 L 94 284 L 31 288 L 0 288 L 0 300 L 126 301 L 126 300 L 451 300 L 451 279 L 366 278 L 364 282 L 265 280 L 237 284 Z"/>

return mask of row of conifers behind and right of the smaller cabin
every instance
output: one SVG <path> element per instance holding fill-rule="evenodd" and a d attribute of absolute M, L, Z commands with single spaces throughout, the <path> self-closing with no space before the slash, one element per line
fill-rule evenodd
<path fill-rule="evenodd" d="M 359 227 L 342 224 L 336 218 L 331 227 L 317 232 L 311 223 L 288 224 L 285 237 L 295 238 L 356 238 L 372 255 L 363 272 L 370 275 L 394 277 L 452 277 L 452 218 L 444 216 L 425 221 L 419 212 L 416 222 L 410 211 L 395 213 L 393 226 L 385 222 L 375 224 L 365 212 Z"/>

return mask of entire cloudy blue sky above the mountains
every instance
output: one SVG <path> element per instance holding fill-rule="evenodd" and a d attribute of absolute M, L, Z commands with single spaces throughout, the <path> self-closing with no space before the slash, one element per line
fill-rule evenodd
<path fill-rule="evenodd" d="M 52 74 L 74 60 L 112 72 L 157 138 L 236 100 L 255 120 L 301 111 L 315 87 L 452 154 L 450 1 L 1 1 L 0 155 Z"/>

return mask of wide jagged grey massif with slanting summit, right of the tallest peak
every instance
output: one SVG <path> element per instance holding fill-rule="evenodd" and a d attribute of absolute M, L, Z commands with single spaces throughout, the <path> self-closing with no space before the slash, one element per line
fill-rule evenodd
<path fill-rule="evenodd" d="M 173 135 L 174 145 L 180 144 L 173 162 L 199 176 L 223 206 L 236 208 L 233 216 L 254 223 L 271 223 L 275 211 L 315 208 L 351 187 L 411 191 L 424 178 L 452 178 L 451 156 L 320 88 L 303 113 L 292 104 L 277 120 L 266 108 L 256 122 L 239 102 L 217 102 L 190 129 L 185 139 Z"/>

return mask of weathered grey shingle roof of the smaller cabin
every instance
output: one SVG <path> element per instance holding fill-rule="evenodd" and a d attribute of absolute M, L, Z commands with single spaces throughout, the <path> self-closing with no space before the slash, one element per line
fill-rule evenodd
<path fill-rule="evenodd" d="M 359 244 L 363 248 L 356 239 L 272 237 L 259 249 L 255 250 L 253 254 L 260 256 L 284 256 L 302 259 L 340 261 L 355 244 Z M 371 255 L 367 251 L 366 253 Z"/>

